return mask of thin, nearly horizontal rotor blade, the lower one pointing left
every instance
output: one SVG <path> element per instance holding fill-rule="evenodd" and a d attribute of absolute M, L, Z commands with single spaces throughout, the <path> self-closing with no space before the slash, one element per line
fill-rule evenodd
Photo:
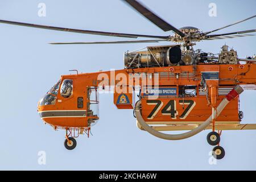
<path fill-rule="evenodd" d="M 110 42 L 53 42 L 49 44 L 131 44 L 131 43 L 154 43 L 166 40 L 128 40 L 128 41 L 110 41 Z"/>

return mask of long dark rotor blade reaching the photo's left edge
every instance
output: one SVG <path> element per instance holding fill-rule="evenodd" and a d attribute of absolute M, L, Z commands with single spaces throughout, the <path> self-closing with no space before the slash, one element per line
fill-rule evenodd
<path fill-rule="evenodd" d="M 0 23 L 14 24 L 14 25 L 24 26 L 24 27 L 42 28 L 42 29 L 47 29 L 47 30 L 56 30 L 56 31 L 64 31 L 64 32 L 73 32 L 73 33 L 80 33 L 80 34 L 118 36 L 118 37 L 123 37 L 123 38 L 138 38 L 138 37 L 143 37 L 143 38 L 168 39 L 168 36 L 122 34 L 122 33 L 114 33 L 114 32 L 101 32 L 101 31 L 79 30 L 79 29 L 73 29 L 73 28 L 62 28 L 62 27 L 45 26 L 45 25 L 40 25 L 40 24 L 13 22 L 13 21 L 8 21 L 8 20 L 0 20 Z"/>

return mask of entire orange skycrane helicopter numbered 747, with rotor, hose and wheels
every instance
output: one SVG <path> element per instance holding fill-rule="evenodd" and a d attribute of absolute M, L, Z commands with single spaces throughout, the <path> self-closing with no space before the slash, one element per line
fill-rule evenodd
<path fill-rule="evenodd" d="M 117 42 L 64 42 L 51 44 L 119 44 L 174 42 L 170 46 L 148 46 L 144 50 L 125 52 L 125 68 L 118 71 L 76 73 L 63 75 L 39 101 L 38 112 L 44 122 L 53 129 L 64 129 L 64 146 L 76 147 L 76 137 L 90 133 L 98 117 L 98 93 L 114 91 L 114 104 L 118 109 L 133 109 L 137 126 L 141 130 L 167 140 L 192 137 L 202 130 L 212 130 L 207 141 L 216 159 L 224 158 L 220 146 L 222 130 L 255 130 L 256 124 L 242 124 L 239 94 L 243 89 L 256 89 L 256 56 L 238 58 L 237 52 L 223 46 L 216 55 L 200 49 L 196 42 L 254 36 L 256 30 L 212 34 L 216 30 L 202 32 L 195 27 L 175 28 L 142 3 L 126 0 L 130 6 L 163 31 L 173 31 L 170 36 L 120 34 L 114 32 L 77 30 L 43 26 L 38 24 L 0 20 L 0 23 L 18 26 L 68 31 L 81 34 L 118 36 L 122 38 L 151 38 Z M 245 64 L 242 64 L 245 63 Z M 135 91 L 138 98 L 135 99 Z M 135 102 L 137 100 L 137 102 Z M 160 131 L 189 130 L 183 134 L 166 134 Z"/>

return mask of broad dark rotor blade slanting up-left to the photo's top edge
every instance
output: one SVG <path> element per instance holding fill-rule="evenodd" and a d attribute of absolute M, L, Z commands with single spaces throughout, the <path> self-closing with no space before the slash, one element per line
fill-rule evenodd
<path fill-rule="evenodd" d="M 146 17 L 148 20 L 150 20 L 152 23 L 154 23 L 156 26 L 161 28 L 163 31 L 174 31 L 176 34 L 179 34 L 181 37 L 185 36 L 183 32 L 177 30 L 174 26 L 167 23 L 165 20 L 160 18 L 158 15 L 153 13 L 151 10 L 147 9 L 144 5 L 142 5 L 141 2 L 135 1 L 135 0 L 123 0 L 127 3 L 129 3 L 130 6 L 132 6 L 135 10 L 137 10 L 139 13 L 141 13 L 144 17 Z"/>

